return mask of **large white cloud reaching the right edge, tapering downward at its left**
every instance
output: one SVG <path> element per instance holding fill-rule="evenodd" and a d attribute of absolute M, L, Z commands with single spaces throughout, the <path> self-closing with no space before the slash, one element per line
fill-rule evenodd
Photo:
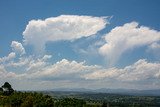
<path fill-rule="evenodd" d="M 111 65 L 129 49 L 160 41 L 159 31 L 138 25 L 137 22 L 127 23 L 106 34 L 106 44 L 100 47 L 99 52 L 107 57 Z"/>

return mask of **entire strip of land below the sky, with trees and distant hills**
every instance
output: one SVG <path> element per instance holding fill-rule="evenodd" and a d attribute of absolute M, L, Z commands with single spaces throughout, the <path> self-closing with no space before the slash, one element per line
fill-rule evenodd
<path fill-rule="evenodd" d="M 0 107 L 160 106 L 160 90 L 119 90 L 59 89 L 59 91 L 14 91 L 11 85 L 5 82 L 0 88 Z"/>

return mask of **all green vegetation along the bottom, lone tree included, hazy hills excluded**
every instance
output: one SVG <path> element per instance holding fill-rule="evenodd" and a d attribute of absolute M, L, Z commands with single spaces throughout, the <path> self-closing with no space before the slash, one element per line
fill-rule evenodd
<path fill-rule="evenodd" d="M 17 92 L 6 82 L 0 88 L 0 107 L 160 107 L 160 97 L 153 96 L 106 93 L 72 93 L 65 96 L 61 92 L 61 96 L 57 97 L 55 93 Z"/>

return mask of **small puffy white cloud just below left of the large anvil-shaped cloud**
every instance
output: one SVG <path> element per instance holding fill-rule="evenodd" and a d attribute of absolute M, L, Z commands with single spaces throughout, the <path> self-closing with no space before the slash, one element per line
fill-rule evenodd
<path fill-rule="evenodd" d="M 20 55 L 25 54 L 25 49 L 21 43 L 17 41 L 12 41 L 11 43 L 12 50 Z"/>

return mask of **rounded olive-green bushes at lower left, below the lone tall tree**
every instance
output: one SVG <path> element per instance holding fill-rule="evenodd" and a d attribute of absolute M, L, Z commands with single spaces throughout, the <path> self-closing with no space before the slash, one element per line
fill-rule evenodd
<path fill-rule="evenodd" d="M 14 92 L 9 96 L 1 95 L 0 105 L 3 107 L 54 107 L 54 100 L 41 93 Z"/>

